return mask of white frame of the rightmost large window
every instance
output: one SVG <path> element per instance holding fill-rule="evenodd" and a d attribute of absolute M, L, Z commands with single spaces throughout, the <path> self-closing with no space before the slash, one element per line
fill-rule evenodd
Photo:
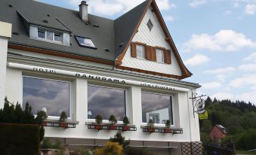
<path fill-rule="evenodd" d="M 171 124 L 171 127 L 175 127 L 176 124 L 175 124 L 175 114 L 174 114 L 174 96 L 173 95 L 170 95 L 170 94 L 167 94 L 167 93 L 154 93 L 154 92 L 149 92 L 149 91 L 141 91 L 141 95 L 142 93 L 150 93 L 150 94 L 154 94 L 154 95 L 160 95 L 160 96 L 170 96 L 171 97 L 171 117 L 172 117 L 172 124 Z M 142 98 L 141 98 L 141 114 L 142 114 Z M 142 115 L 141 115 L 142 117 Z M 145 125 L 147 126 L 147 123 L 141 123 L 142 125 Z M 162 124 L 162 123 L 154 123 L 154 126 L 165 126 L 165 124 Z"/>

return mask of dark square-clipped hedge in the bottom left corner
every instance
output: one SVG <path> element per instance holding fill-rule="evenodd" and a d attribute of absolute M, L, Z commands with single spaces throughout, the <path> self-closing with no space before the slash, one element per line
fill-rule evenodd
<path fill-rule="evenodd" d="M 39 125 L 0 123 L 0 154 L 38 155 Z"/>

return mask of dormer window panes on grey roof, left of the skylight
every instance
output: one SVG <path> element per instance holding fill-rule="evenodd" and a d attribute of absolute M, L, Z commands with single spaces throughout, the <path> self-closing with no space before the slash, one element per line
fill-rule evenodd
<path fill-rule="evenodd" d="M 61 36 L 59 33 L 51 32 L 44 29 L 38 29 L 38 38 L 45 39 L 47 41 L 61 42 Z"/>

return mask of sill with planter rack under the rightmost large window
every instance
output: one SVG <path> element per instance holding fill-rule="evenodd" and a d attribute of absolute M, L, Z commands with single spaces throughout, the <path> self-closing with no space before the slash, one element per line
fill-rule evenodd
<path fill-rule="evenodd" d="M 165 126 L 147 126 L 147 125 L 141 125 L 141 129 L 143 129 L 143 132 L 162 132 L 162 133 L 172 133 L 174 134 L 182 134 L 183 129 L 182 128 L 177 128 L 177 127 L 165 127 Z"/>

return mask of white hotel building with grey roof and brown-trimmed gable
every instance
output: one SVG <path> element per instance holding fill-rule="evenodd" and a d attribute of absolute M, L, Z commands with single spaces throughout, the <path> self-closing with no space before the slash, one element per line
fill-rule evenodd
<path fill-rule="evenodd" d="M 29 102 L 46 110 L 45 137 L 66 144 L 103 144 L 116 130 L 109 115 L 131 122 L 123 135 L 133 146 L 180 154 L 180 142 L 200 141 L 190 97 L 199 84 L 182 62 L 159 8 L 147 0 L 116 20 L 30 0 L 0 5 L 0 108 Z M 60 113 L 68 115 L 59 123 Z M 94 117 L 103 117 L 103 129 Z M 155 129 L 148 132 L 149 119 Z M 165 121 L 171 133 L 165 133 Z M 59 126 L 59 127 L 57 127 Z M 174 134 L 173 134 L 174 133 Z M 156 150 L 155 148 L 155 150 Z"/>

